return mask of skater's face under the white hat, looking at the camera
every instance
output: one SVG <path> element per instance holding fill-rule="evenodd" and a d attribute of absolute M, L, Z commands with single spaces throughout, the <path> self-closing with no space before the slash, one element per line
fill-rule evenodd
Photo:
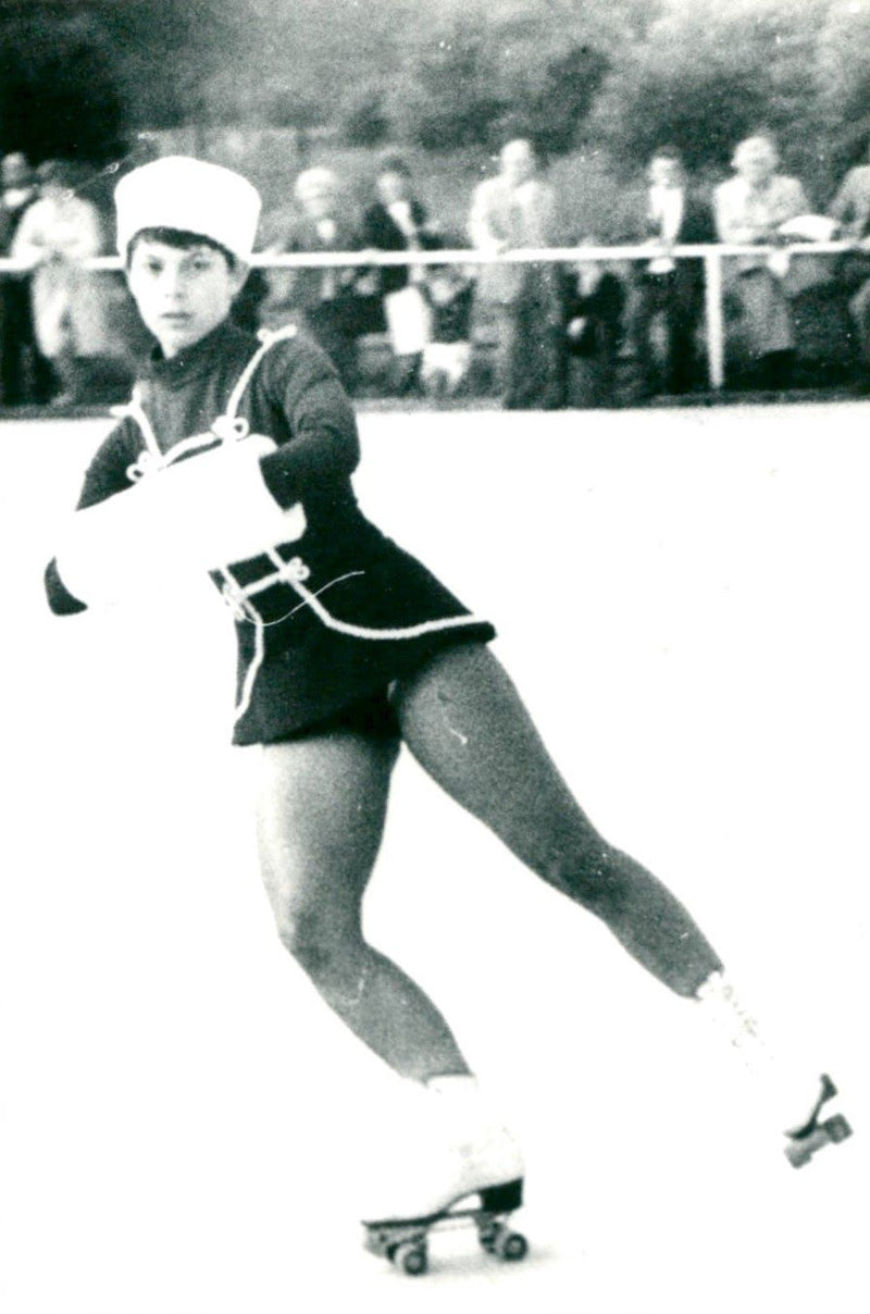
<path fill-rule="evenodd" d="M 141 238 L 130 256 L 127 283 L 146 328 L 168 357 L 226 319 L 246 272 L 208 243 L 180 248 Z"/>

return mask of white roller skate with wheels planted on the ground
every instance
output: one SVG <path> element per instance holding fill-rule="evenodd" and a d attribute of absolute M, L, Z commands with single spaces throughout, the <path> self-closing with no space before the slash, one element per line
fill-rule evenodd
<path fill-rule="evenodd" d="M 410 1083 L 409 1083 L 410 1084 Z M 470 1222 L 484 1250 L 522 1259 L 526 1239 L 507 1226 L 523 1201 L 523 1160 L 470 1076 L 415 1087 L 410 1114 L 390 1127 L 378 1184 L 365 1201 L 365 1244 L 406 1273 L 428 1267 L 427 1238 L 438 1226 Z"/>

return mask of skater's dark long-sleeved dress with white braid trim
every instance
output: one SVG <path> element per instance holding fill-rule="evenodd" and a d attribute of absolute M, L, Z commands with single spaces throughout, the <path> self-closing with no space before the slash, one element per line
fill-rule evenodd
<path fill-rule="evenodd" d="M 79 509 L 239 431 L 275 440 L 260 461 L 264 481 L 281 507 L 301 503 L 306 528 L 212 573 L 238 639 L 233 742 L 275 742 L 348 715 L 373 729 L 380 716 L 382 728 L 393 679 L 495 631 L 360 511 L 354 411 L 304 334 L 260 342 L 223 323 L 179 355 L 152 359 L 88 468 Z M 84 610 L 54 561 L 46 587 L 53 611 Z"/>

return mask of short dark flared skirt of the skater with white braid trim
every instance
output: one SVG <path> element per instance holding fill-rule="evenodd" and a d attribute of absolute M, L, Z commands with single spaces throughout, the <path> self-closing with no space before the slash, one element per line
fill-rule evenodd
<path fill-rule="evenodd" d="M 489 620 L 363 518 L 350 532 L 306 533 L 271 560 L 237 564 L 216 582 L 235 610 L 239 745 L 297 737 L 348 710 L 371 711 L 371 699 L 380 700 L 372 732 L 392 733 L 392 681 L 444 648 L 495 637 Z"/>

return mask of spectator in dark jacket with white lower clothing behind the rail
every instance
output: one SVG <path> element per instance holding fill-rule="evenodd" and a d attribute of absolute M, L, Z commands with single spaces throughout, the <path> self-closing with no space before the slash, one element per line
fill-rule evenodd
<path fill-rule="evenodd" d="M 411 171 L 398 155 L 381 160 L 375 192 L 377 198 L 363 215 L 364 246 L 377 251 L 426 251 L 438 244 L 426 209 L 414 193 Z M 377 271 L 382 323 L 397 367 L 394 392 L 400 397 L 418 385 L 423 348 L 430 340 L 424 283 L 424 265 L 381 265 Z"/>

